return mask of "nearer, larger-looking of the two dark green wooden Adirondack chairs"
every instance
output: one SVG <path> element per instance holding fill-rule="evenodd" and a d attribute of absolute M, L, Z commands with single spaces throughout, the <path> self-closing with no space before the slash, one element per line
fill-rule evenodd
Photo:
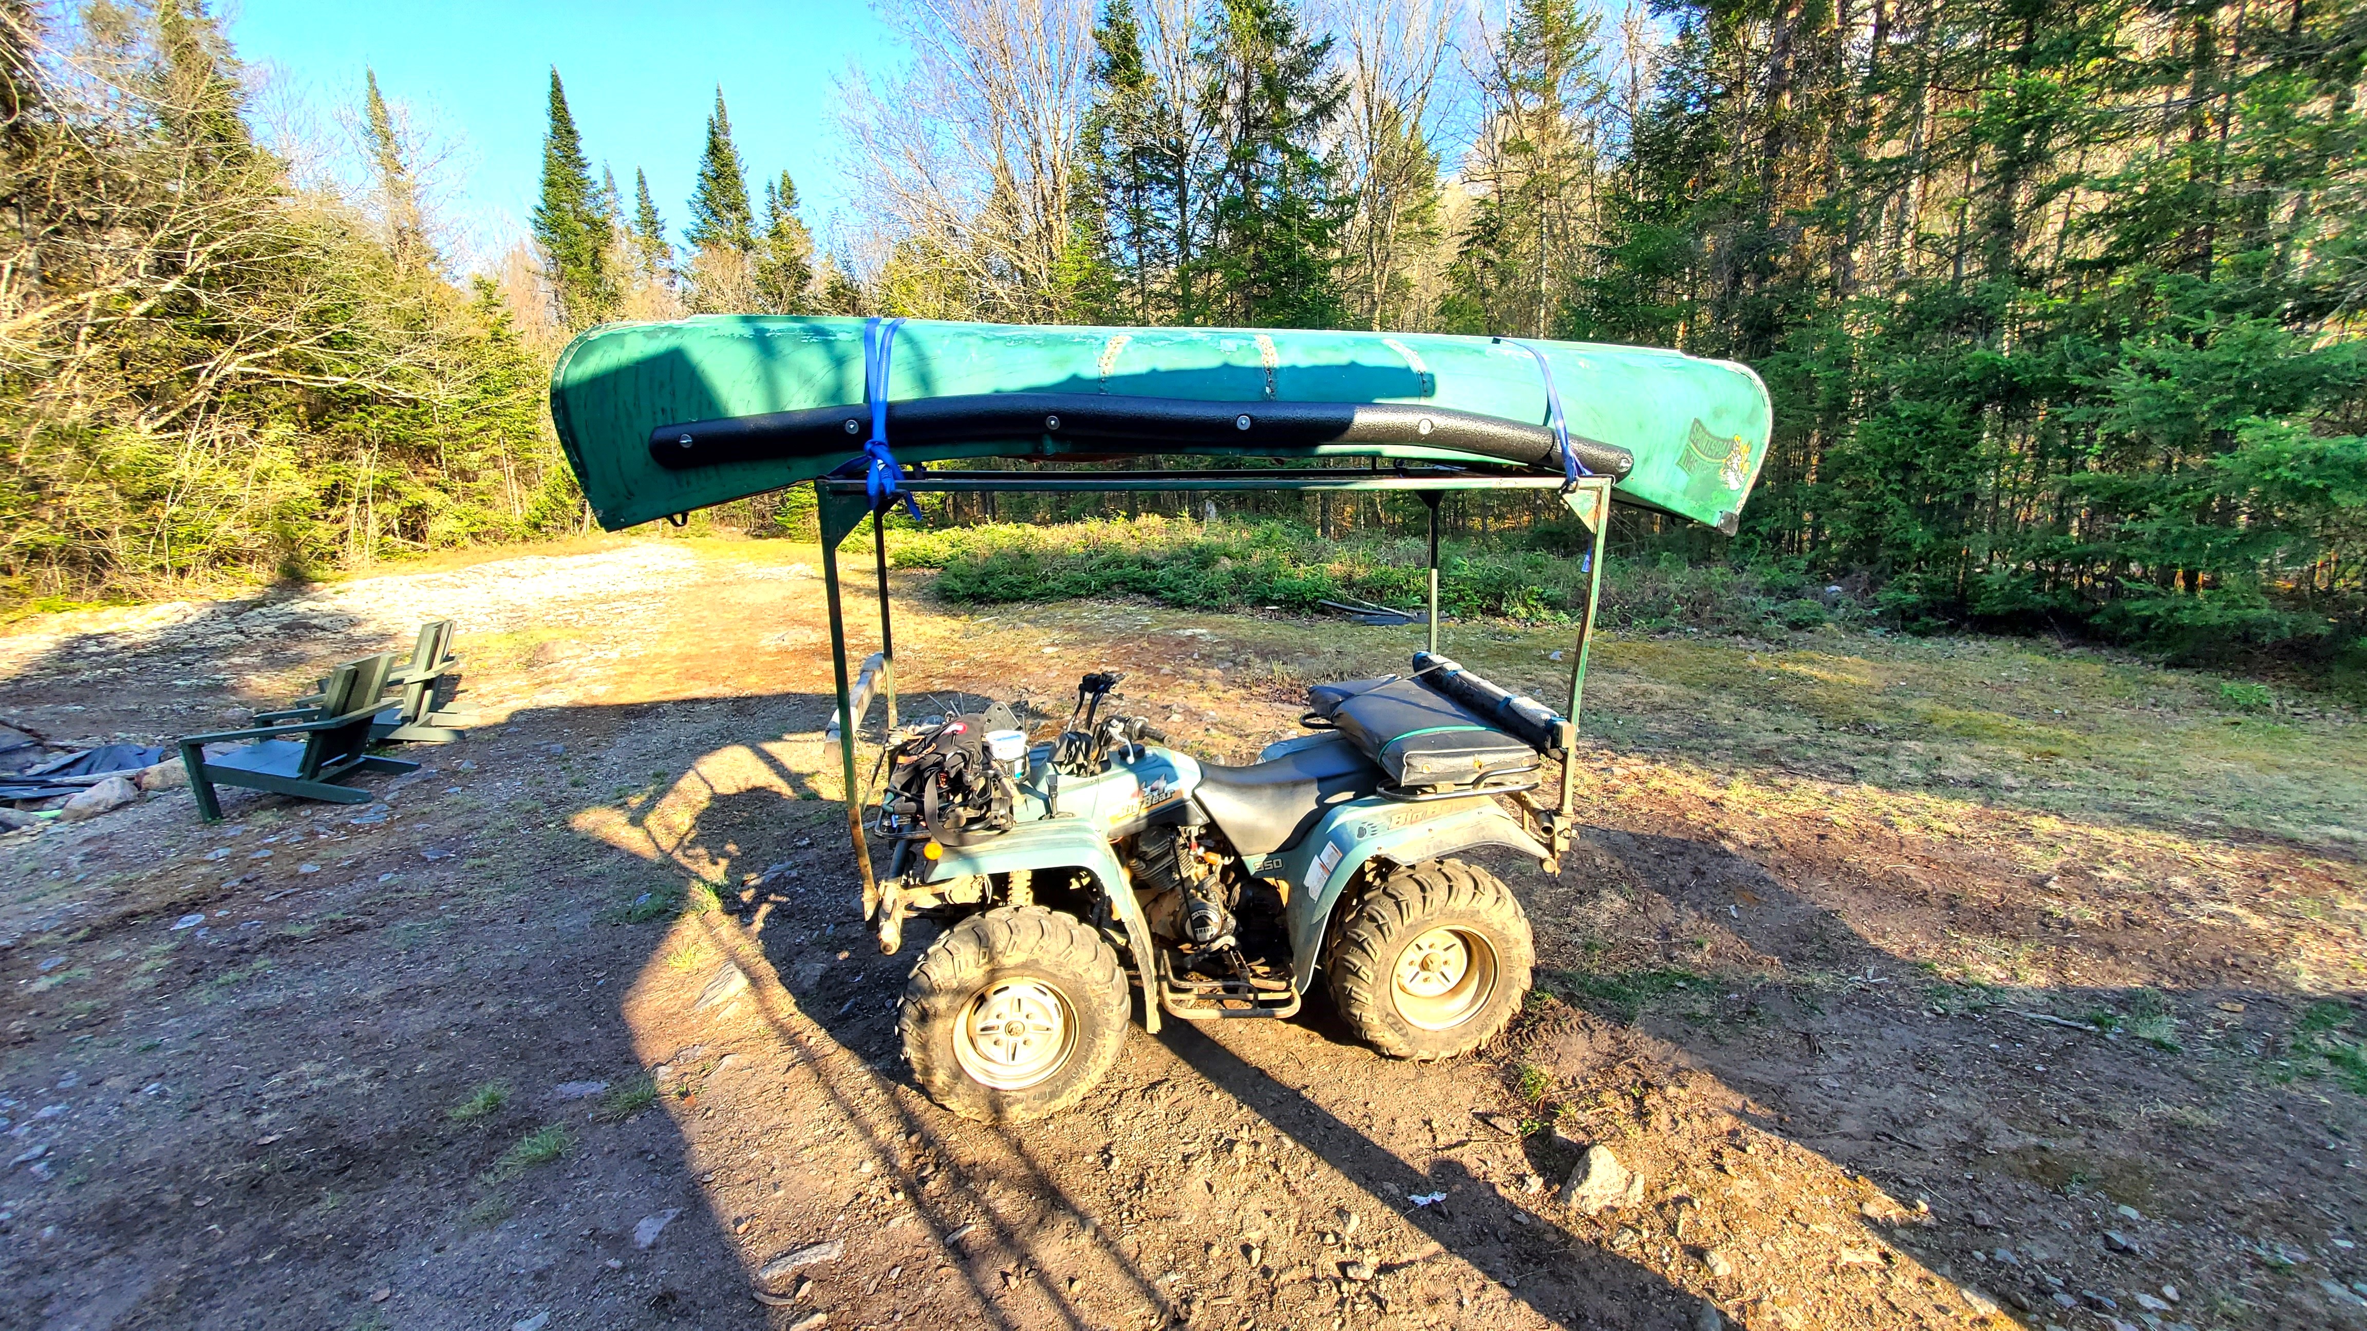
<path fill-rule="evenodd" d="M 379 694 L 393 673 L 393 651 L 367 656 L 329 673 L 310 718 L 185 737 L 180 763 L 189 770 L 196 812 L 206 822 L 222 819 L 222 805 L 213 796 L 218 784 L 360 805 L 369 803 L 369 791 L 341 786 L 341 779 L 357 772 L 417 772 L 419 763 L 369 753 L 372 722 L 381 710 Z M 206 758 L 208 744 L 232 739 L 253 744 Z"/>

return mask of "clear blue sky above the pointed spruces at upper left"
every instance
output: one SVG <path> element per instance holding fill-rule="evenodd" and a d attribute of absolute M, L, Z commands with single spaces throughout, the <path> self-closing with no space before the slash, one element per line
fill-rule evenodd
<path fill-rule="evenodd" d="M 750 194 L 788 168 L 819 230 L 843 199 L 828 163 L 833 85 L 850 59 L 885 69 L 899 57 L 859 0 L 244 0 L 230 38 L 315 97 L 360 88 L 367 64 L 388 97 L 433 109 L 466 137 L 466 206 L 499 244 L 511 237 L 483 223 L 523 227 L 535 206 L 552 64 L 592 168 L 613 166 L 627 204 L 632 168 L 649 171 L 679 237 L 717 83 Z"/>

